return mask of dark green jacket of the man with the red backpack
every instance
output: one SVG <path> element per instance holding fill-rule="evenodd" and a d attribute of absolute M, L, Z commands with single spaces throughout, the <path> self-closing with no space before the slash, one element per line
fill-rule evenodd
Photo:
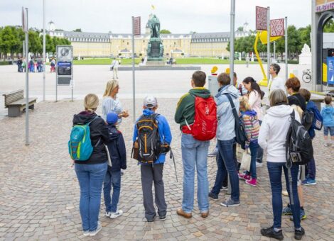
<path fill-rule="evenodd" d="M 176 107 L 176 113 L 174 119 L 176 123 L 180 124 L 180 129 L 185 124 L 185 119 L 188 124 L 191 125 L 194 122 L 195 118 L 195 97 L 200 96 L 204 99 L 208 99 L 210 91 L 204 87 L 195 87 L 190 89 L 187 94 L 184 94 L 181 99 L 178 101 L 178 106 Z"/>

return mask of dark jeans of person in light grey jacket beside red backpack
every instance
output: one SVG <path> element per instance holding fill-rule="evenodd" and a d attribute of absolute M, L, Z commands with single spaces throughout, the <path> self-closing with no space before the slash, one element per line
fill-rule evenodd
<path fill-rule="evenodd" d="M 234 144 L 235 138 L 232 140 L 218 140 L 217 176 L 211 192 L 216 195 L 220 193 L 223 181 L 228 172 L 232 188 L 231 198 L 233 201 L 239 201 L 239 177 L 237 175 L 235 155 L 233 152 Z"/>

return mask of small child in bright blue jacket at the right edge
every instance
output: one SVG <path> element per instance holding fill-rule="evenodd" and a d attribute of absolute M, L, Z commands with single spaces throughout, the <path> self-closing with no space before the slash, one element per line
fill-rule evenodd
<path fill-rule="evenodd" d="M 332 97 L 325 96 L 325 107 L 321 109 L 321 116 L 323 116 L 323 138 L 325 139 L 325 147 L 330 146 L 328 142 L 328 132 L 332 140 L 332 147 L 334 147 L 334 107 L 332 106 Z"/>

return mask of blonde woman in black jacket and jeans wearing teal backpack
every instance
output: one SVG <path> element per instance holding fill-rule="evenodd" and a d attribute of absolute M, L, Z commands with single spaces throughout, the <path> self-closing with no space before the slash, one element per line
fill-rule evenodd
<path fill-rule="evenodd" d="M 99 206 L 104 176 L 107 172 L 107 152 L 104 142 L 109 140 L 104 120 L 95 113 L 99 106 L 96 94 L 85 96 L 85 111 L 74 115 L 73 125 L 90 123 L 93 152 L 87 161 L 75 161 L 75 173 L 80 184 L 80 215 L 85 236 L 95 236 L 102 229 Z"/>

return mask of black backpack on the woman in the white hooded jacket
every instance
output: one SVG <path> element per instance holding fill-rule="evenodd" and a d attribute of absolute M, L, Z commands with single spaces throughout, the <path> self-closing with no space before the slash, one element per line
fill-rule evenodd
<path fill-rule="evenodd" d="M 305 126 L 295 119 L 295 111 L 291 113 L 291 123 L 286 135 L 287 164 L 307 164 L 313 158 L 312 139 Z"/>

